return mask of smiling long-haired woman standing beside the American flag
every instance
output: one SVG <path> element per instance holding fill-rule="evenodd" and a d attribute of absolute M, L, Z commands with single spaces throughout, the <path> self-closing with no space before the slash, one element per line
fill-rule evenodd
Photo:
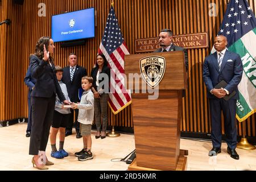
<path fill-rule="evenodd" d="M 95 138 L 104 139 L 106 138 L 106 127 L 108 125 L 110 68 L 108 67 L 108 61 L 103 53 L 97 55 L 96 67 L 92 69 L 90 75 L 93 77 L 92 92 L 94 94 L 94 118 L 97 127 Z"/>

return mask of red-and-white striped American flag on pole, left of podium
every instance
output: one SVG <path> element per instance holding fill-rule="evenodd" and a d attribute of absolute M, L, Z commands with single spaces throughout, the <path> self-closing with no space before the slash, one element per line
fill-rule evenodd
<path fill-rule="evenodd" d="M 110 8 L 98 53 L 104 53 L 111 70 L 109 106 L 114 114 L 131 104 L 131 94 L 125 88 L 125 55 L 129 55 L 113 5 Z"/>

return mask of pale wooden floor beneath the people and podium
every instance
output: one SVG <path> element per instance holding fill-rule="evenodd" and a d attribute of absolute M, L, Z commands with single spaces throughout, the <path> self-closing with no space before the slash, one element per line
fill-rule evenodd
<path fill-rule="evenodd" d="M 26 138 L 26 123 L 0 128 L 0 170 L 1 171 L 33 171 L 38 170 L 32 167 L 31 158 L 28 155 L 30 138 Z M 92 152 L 94 158 L 81 162 L 74 155 L 82 148 L 82 139 L 76 139 L 73 135 L 65 138 L 64 149 L 69 156 L 64 159 L 51 158 L 51 145 L 47 144 L 47 157 L 55 163 L 49 166 L 52 171 L 126 171 L 129 164 L 125 162 L 112 162 L 114 158 L 124 158 L 134 150 L 134 135 L 121 134 L 117 138 L 95 139 L 96 131 L 92 131 Z M 256 170 L 256 150 L 246 151 L 237 148 L 240 160 L 230 158 L 226 152 L 226 143 L 222 143 L 222 152 L 215 157 L 209 157 L 208 152 L 212 148 L 209 141 L 181 139 L 180 148 L 188 150 L 187 170 L 188 171 L 241 171 Z M 57 148 L 59 139 L 57 138 Z"/>

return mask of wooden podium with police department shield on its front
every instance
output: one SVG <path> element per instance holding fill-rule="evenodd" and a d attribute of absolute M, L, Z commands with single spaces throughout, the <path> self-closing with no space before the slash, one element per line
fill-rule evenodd
<path fill-rule="evenodd" d="M 150 56 L 164 57 L 166 62 L 163 78 L 158 85 L 159 96 L 156 100 L 148 100 L 148 96 L 156 94 L 156 91 L 151 94 L 145 92 L 142 85 L 145 85 L 146 81 L 143 78 L 131 78 L 134 73 L 141 74 L 141 65 L 156 61 L 152 59 L 146 64 L 141 63 L 141 60 Z M 131 90 L 132 96 L 136 148 L 136 158 L 130 164 L 129 170 L 185 170 L 187 157 L 184 155 L 188 155 L 188 151 L 180 150 L 182 92 L 187 88 L 183 52 L 126 55 L 125 75 L 126 88 Z"/>

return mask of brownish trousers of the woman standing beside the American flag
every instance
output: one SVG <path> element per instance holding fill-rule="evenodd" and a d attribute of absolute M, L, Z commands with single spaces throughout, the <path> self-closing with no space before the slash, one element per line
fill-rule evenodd
<path fill-rule="evenodd" d="M 102 117 L 102 130 L 106 131 L 108 125 L 108 100 L 109 94 L 104 93 L 100 98 L 94 98 L 94 113 L 97 131 L 101 130 L 101 117 Z"/>

